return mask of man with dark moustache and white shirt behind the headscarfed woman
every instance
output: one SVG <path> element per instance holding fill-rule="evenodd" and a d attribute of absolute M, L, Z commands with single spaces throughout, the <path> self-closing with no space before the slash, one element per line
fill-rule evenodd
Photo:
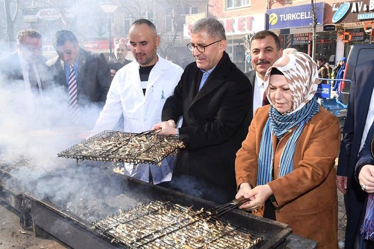
<path fill-rule="evenodd" d="M 253 108 L 251 108 L 250 116 L 253 117 L 257 108 L 269 104 L 266 98 L 263 102 L 267 87 L 264 84 L 265 73 L 282 56 L 282 48 L 275 33 L 263 30 L 255 33 L 252 37 L 250 51 L 253 70 L 246 72 L 245 75 L 252 86 Z"/>

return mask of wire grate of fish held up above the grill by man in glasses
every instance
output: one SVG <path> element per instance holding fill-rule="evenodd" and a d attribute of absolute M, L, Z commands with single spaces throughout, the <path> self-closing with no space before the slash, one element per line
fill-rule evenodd
<path fill-rule="evenodd" d="M 159 164 L 186 142 L 187 136 L 184 135 L 105 130 L 61 151 L 57 156 L 76 160 Z"/>

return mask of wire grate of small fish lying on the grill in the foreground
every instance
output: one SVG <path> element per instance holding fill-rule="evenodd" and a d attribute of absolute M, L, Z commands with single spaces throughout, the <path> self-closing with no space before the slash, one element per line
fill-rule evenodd
<path fill-rule="evenodd" d="M 129 248 L 251 248 L 262 237 L 171 201 L 148 204 L 94 224 L 99 233 Z"/>

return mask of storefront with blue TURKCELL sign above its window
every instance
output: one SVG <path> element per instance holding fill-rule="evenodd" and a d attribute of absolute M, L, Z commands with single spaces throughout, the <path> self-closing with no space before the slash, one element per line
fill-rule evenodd
<path fill-rule="evenodd" d="M 316 58 L 334 63 L 336 51 L 336 31 L 325 31 L 324 2 L 315 3 L 317 19 L 315 44 Z M 283 48 L 296 48 L 300 52 L 312 55 L 313 11 L 311 4 L 267 10 L 267 29 L 279 34 Z"/>

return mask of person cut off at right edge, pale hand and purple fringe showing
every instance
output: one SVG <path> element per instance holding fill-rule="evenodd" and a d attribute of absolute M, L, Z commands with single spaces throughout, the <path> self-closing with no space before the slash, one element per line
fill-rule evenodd
<path fill-rule="evenodd" d="M 356 179 L 368 193 L 360 228 L 360 249 L 374 249 L 374 123 L 369 129 L 365 144 L 356 163 Z"/>

